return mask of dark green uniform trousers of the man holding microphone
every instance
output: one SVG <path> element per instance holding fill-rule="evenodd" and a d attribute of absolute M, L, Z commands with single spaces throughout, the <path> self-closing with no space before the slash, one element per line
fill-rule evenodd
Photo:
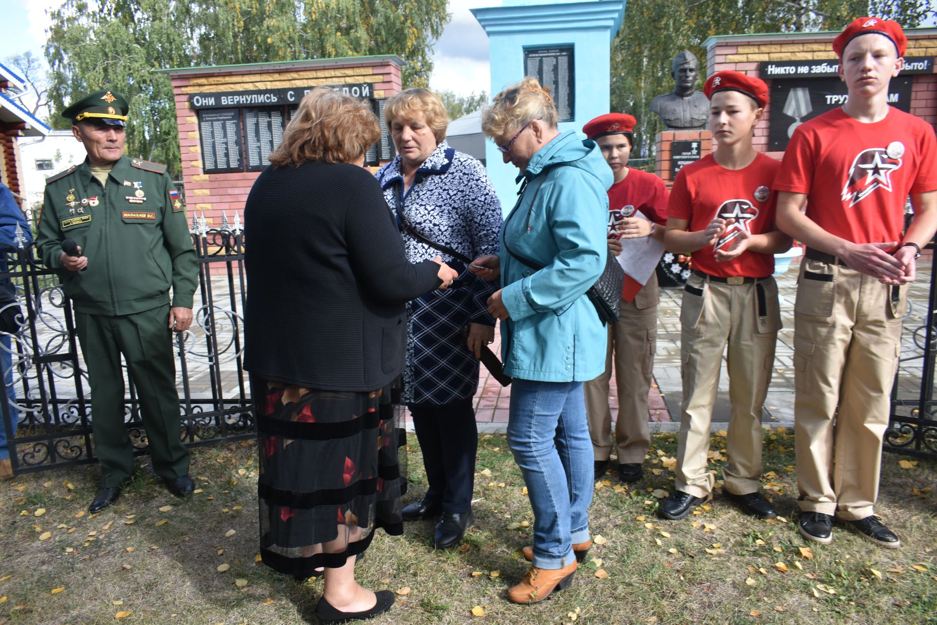
<path fill-rule="evenodd" d="M 124 422 L 124 354 L 140 399 L 153 469 L 171 480 L 188 473 L 188 450 L 175 386 L 170 306 L 118 317 L 75 313 L 91 381 L 91 429 L 102 486 L 119 486 L 133 474 L 133 448 Z"/>

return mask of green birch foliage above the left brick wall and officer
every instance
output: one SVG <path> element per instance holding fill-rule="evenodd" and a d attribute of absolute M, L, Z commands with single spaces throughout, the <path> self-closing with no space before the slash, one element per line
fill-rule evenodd
<path fill-rule="evenodd" d="M 130 102 L 127 153 L 181 171 L 175 102 L 154 69 L 396 54 L 403 84 L 425 86 L 447 0 L 66 0 L 46 46 L 52 125 L 101 88 Z"/>

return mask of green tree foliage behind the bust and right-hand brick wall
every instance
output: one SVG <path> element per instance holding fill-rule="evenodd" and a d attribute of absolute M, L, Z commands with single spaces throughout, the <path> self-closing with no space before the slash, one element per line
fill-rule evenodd
<path fill-rule="evenodd" d="M 912 27 L 935 14 L 927 0 L 629 0 L 612 42 L 611 110 L 638 120 L 632 154 L 653 156 L 654 135 L 663 126 L 650 101 L 673 91 L 671 62 L 678 52 L 696 54 L 702 88 L 708 37 L 836 30 L 866 15 Z"/>

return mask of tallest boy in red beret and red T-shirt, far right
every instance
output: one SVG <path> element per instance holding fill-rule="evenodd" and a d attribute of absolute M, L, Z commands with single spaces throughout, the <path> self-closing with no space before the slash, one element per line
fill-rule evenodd
<path fill-rule="evenodd" d="M 859 18 L 833 40 L 849 99 L 797 126 L 774 188 L 778 225 L 805 243 L 795 306 L 800 533 L 830 543 L 834 515 L 871 542 L 882 437 L 915 259 L 937 229 L 934 131 L 888 106 L 897 22 Z M 915 219 L 903 236 L 904 204 Z M 806 213 L 801 208 L 807 202 Z"/>

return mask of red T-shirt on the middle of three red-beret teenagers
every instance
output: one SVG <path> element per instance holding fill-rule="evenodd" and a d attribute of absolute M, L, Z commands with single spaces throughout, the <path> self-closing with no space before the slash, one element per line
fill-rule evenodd
<path fill-rule="evenodd" d="M 711 154 L 684 166 L 670 189 L 667 215 L 687 219 L 687 231 L 704 231 L 717 216 L 734 218 L 736 223 L 712 246 L 692 253 L 693 269 L 709 275 L 729 277 L 766 277 L 774 273 L 774 256 L 745 251 L 735 260 L 717 262 L 714 252 L 728 246 L 739 231 L 765 234 L 775 230 L 774 213 L 778 194 L 771 191 L 781 163 L 759 153 L 751 165 L 741 170 L 727 170 Z"/>

